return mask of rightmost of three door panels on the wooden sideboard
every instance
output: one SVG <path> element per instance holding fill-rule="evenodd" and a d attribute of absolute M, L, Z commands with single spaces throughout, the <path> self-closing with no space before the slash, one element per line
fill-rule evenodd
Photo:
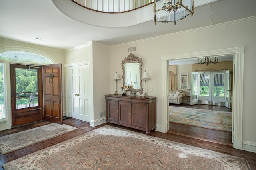
<path fill-rule="evenodd" d="M 146 129 L 146 104 L 132 104 L 132 126 Z"/>

